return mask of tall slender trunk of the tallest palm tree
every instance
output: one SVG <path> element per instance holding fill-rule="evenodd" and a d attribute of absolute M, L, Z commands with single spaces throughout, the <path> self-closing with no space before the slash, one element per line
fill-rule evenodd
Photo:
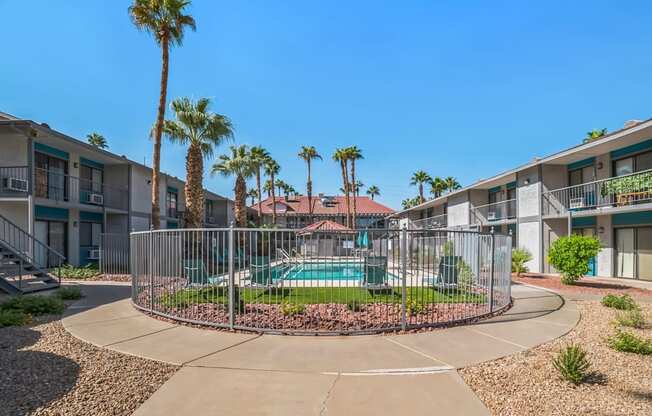
<path fill-rule="evenodd" d="M 161 135 L 163 133 L 163 120 L 165 119 L 165 102 L 168 92 L 168 67 L 170 63 L 169 39 L 164 36 L 161 40 L 162 67 L 161 90 L 158 97 L 158 113 L 154 127 L 154 152 L 152 154 L 152 228 L 161 227 L 161 210 L 159 202 L 159 182 L 161 172 Z"/>

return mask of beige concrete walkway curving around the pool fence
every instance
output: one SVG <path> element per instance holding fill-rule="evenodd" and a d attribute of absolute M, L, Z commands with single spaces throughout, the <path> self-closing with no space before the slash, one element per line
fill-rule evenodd
<path fill-rule="evenodd" d="M 63 319 L 74 336 L 181 365 L 136 415 L 486 415 L 456 369 L 548 342 L 579 320 L 574 303 L 513 286 L 506 314 L 407 335 L 292 337 L 162 322 L 136 311 L 124 285 L 84 285 Z"/>

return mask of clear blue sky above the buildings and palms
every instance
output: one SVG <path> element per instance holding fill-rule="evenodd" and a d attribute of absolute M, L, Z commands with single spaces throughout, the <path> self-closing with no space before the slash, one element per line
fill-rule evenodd
<path fill-rule="evenodd" d="M 358 145 L 361 180 L 394 208 L 416 194 L 415 170 L 466 185 L 652 116 L 649 3 L 460 3 L 195 0 L 168 97 L 211 97 L 236 142 L 268 148 L 297 189 L 300 145 L 325 156 L 314 187 L 326 193 L 341 186 L 333 150 Z M 0 0 L 0 111 L 97 131 L 149 163 L 160 52 L 129 4 Z M 162 169 L 184 176 L 183 149 L 166 143 Z M 221 177 L 206 185 L 233 193 Z"/>

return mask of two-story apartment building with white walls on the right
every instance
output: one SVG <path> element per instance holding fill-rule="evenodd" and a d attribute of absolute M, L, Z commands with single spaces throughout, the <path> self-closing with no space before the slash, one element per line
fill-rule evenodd
<path fill-rule="evenodd" d="M 550 245 L 571 233 L 602 243 L 590 275 L 652 280 L 652 120 L 581 143 L 390 217 L 412 228 L 509 233 L 554 272 Z"/>

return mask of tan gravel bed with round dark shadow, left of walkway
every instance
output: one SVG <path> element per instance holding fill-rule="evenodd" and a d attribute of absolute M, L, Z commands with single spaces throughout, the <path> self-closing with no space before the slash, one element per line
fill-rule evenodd
<path fill-rule="evenodd" d="M 177 367 L 86 344 L 56 319 L 0 329 L 0 415 L 129 415 Z"/>

